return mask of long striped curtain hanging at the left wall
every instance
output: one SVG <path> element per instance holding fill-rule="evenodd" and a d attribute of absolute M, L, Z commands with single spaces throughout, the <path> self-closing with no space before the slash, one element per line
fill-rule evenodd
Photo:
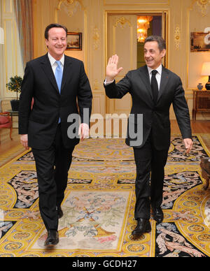
<path fill-rule="evenodd" d="M 34 38 L 33 38 L 33 0 L 13 0 L 20 48 L 22 54 L 23 66 L 26 65 L 27 61 L 30 61 L 34 57 Z"/>

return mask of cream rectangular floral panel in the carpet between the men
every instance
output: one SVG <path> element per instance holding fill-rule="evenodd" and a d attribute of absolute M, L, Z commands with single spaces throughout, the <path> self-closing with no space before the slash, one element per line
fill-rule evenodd
<path fill-rule="evenodd" d="M 69 191 L 59 221 L 57 249 L 119 251 L 130 209 L 129 191 Z M 46 233 L 31 249 L 43 249 Z"/>

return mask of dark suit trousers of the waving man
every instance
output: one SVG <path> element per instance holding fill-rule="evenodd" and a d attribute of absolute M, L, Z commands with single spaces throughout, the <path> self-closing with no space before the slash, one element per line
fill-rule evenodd
<path fill-rule="evenodd" d="M 134 147 L 137 166 L 135 219 L 150 219 L 151 206 L 161 206 L 167 156 L 168 149 L 155 149 L 152 132 L 143 147 Z"/>

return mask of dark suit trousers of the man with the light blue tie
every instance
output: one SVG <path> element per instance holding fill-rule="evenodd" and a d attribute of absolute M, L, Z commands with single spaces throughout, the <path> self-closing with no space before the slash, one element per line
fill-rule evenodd
<path fill-rule="evenodd" d="M 55 140 L 49 149 L 34 149 L 38 179 L 39 209 L 47 230 L 57 230 L 57 207 L 64 199 L 74 146 L 66 149 L 58 124 Z"/>

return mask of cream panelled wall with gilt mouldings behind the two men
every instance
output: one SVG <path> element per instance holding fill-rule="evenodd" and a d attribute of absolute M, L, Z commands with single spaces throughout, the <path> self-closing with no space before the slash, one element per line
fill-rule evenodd
<path fill-rule="evenodd" d="M 209 60 L 210 53 L 190 53 L 190 31 L 204 31 L 205 27 L 210 27 L 209 8 L 209 0 L 34 0 L 35 57 L 46 52 L 43 32 L 51 22 L 65 24 L 69 31 L 82 31 L 83 51 L 66 51 L 66 54 L 84 61 L 94 96 L 92 112 L 105 115 L 103 81 L 109 57 L 106 55 L 109 15 L 165 11 L 168 15 L 167 67 L 181 77 L 191 114 L 192 89 L 197 87 L 197 82 L 206 81 L 200 69 L 202 61 Z M 173 110 L 171 117 L 174 118 Z M 199 117 L 202 115 L 197 115 Z M 207 117 L 203 115 L 204 119 Z"/>

